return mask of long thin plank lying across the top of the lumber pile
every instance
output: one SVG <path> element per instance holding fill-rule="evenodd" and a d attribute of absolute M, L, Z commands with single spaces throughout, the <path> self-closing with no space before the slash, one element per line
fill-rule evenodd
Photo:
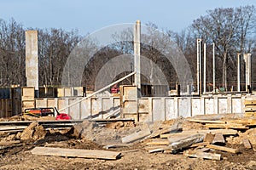
<path fill-rule="evenodd" d="M 212 130 L 189 130 L 189 131 L 183 131 L 181 133 L 167 133 L 167 134 L 161 134 L 160 138 L 165 139 L 165 138 L 175 138 L 175 137 L 180 137 L 183 135 L 188 135 L 188 134 L 197 134 L 197 133 L 223 133 L 223 135 L 236 135 L 237 130 L 234 129 L 212 129 Z"/>

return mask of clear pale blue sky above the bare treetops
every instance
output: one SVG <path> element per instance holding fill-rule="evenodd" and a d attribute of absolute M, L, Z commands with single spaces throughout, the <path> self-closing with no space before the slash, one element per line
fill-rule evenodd
<path fill-rule="evenodd" d="M 0 18 L 25 27 L 78 29 L 81 35 L 136 20 L 181 31 L 209 9 L 245 5 L 256 6 L 256 0 L 0 0 Z"/>

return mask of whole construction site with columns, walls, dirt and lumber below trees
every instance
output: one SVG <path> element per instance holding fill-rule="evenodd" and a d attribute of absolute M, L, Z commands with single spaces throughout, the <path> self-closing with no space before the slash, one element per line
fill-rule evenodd
<path fill-rule="evenodd" d="M 187 65 L 174 63 L 180 80 L 170 89 L 141 81 L 152 78 L 141 68 L 141 36 L 137 20 L 130 73 L 89 91 L 39 87 L 38 31 L 26 31 L 26 87 L 0 89 L 0 169 L 256 169 L 252 54 L 237 54 L 236 88 L 218 88 L 214 43 L 207 77 L 206 43 L 198 38 L 196 81 Z M 120 84 L 128 77 L 131 84 Z"/>

